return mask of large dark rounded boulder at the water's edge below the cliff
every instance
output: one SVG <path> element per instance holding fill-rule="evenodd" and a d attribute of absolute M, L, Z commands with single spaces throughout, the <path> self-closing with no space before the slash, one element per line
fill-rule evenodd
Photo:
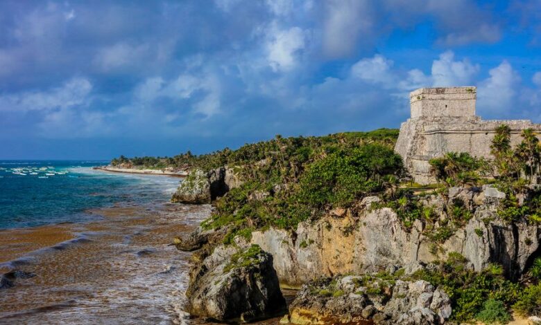
<path fill-rule="evenodd" d="M 220 322 L 251 322 L 284 313 L 273 257 L 257 245 L 218 245 L 191 270 L 186 310 Z"/>

